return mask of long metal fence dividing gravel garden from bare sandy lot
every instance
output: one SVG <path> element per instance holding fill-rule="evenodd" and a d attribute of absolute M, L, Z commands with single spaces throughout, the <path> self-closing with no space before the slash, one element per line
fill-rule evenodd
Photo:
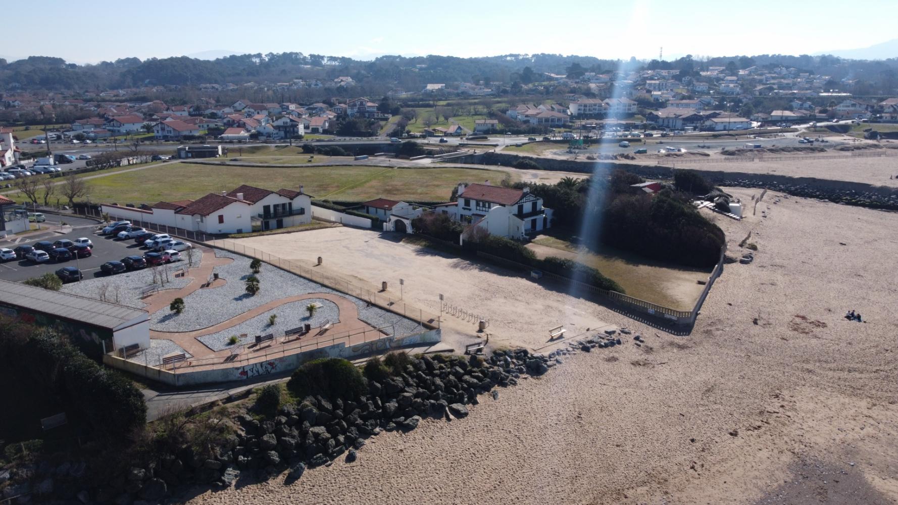
<path fill-rule="evenodd" d="M 389 294 L 386 294 L 386 291 L 379 290 L 373 286 L 357 286 L 347 279 L 341 279 L 339 275 L 333 272 L 325 271 L 321 265 L 307 267 L 296 261 L 288 261 L 273 254 L 266 253 L 265 251 L 247 247 L 244 244 L 237 244 L 229 240 L 213 240 L 212 242 L 208 242 L 207 245 L 225 249 L 226 251 L 232 251 L 233 253 L 239 253 L 244 256 L 250 256 L 251 258 L 258 258 L 281 270 L 293 272 L 300 277 L 318 282 L 335 291 L 346 293 L 347 295 L 365 300 L 374 306 L 379 306 L 394 314 L 418 321 L 418 323 L 424 327 L 430 329 L 440 327 L 440 315 L 432 314 L 419 307 L 406 304 L 401 298 L 393 298 Z"/>

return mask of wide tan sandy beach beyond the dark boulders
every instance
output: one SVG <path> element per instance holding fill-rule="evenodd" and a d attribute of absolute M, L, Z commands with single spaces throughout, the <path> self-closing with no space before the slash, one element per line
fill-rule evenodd
<path fill-rule="evenodd" d="M 759 250 L 726 265 L 690 336 L 596 306 L 647 345 L 578 354 L 481 397 L 465 420 L 383 434 L 356 463 L 290 486 L 278 477 L 191 502 L 898 502 L 898 214 L 770 192 L 762 205 L 770 217 L 713 217 L 731 253 L 749 230 Z M 489 297 L 479 289 L 497 296 L 480 282 L 472 303 Z M 526 293 L 501 302 L 525 306 Z M 843 319 L 849 309 L 869 323 Z"/>

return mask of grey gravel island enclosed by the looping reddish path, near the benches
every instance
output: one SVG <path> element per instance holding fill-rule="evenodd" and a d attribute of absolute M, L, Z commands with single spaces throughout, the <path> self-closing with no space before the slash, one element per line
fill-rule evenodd
<path fill-rule="evenodd" d="M 315 315 L 310 318 L 305 307 L 313 303 L 321 304 L 321 306 L 315 311 Z M 277 320 L 273 326 L 269 325 L 269 317 L 272 314 L 277 314 Z M 241 338 L 240 342 L 236 344 L 244 345 L 254 342 L 256 335 L 274 333 L 275 336 L 282 336 L 286 330 L 305 323 L 310 323 L 313 328 L 317 328 L 321 326 L 324 320 L 330 320 L 331 323 L 339 322 L 339 308 L 337 304 L 323 298 L 309 298 L 279 306 L 222 332 L 198 337 L 197 340 L 203 342 L 211 350 L 223 350 L 232 347 L 227 343 L 232 335 L 236 335 L 239 338 L 242 333 L 246 333 L 246 337 Z"/>

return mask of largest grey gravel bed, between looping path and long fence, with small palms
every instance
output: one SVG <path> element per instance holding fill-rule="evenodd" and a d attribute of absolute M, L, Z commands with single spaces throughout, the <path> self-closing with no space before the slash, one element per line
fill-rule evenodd
<path fill-rule="evenodd" d="M 311 293 L 328 293 L 345 297 L 356 304 L 359 319 L 365 323 L 374 326 L 396 323 L 396 334 L 398 336 L 418 331 L 419 326 L 415 321 L 401 315 L 395 315 L 377 306 L 368 306 L 365 300 L 350 297 L 339 291 L 321 286 L 321 284 L 312 280 L 304 279 L 267 264 L 262 265 L 262 270 L 257 275 L 260 291 L 256 295 L 251 296 L 245 290 L 245 279 L 252 273 L 250 270 L 251 260 L 239 254 L 220 250 L 216 250 L 216 256 L 233 259 L 233 262 L 217 266 L 214 270 L 219 278 L 227 281 L 225 285 L 219 288 L 199 289 L 185 297 L 185 309 L 180 316 L 174 316 L 166 310 L 150 315 L 152 318 L 151 328 L 153 330 L 160 332 L 192 332 L 223 323 L 232 317 L 281 298 Z M 305 305 L 308 305 L 308 302 L 304 303 Z M 301 314 L 304 313 L 304 306 Z M 281 308 L 278 308 L 272 312 L 277 313 L 278 318 L 280 318 L 283 311 Z M 266 315 L 262 320 L 268 323 L 268 316 Z M 294 324 L 291 327 L 295 326 L 298 326 L 298 324 Z M 255 330 L 251 331 L 254 332 Z M 227 330 L 228 337 L 234 333 L 231 329 Z M 245 333 L 249 334 L 250 332 Z"/>

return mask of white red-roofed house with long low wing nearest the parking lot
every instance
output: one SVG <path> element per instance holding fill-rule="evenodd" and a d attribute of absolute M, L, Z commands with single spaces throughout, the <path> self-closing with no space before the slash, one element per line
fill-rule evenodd
<path fill-rule="evenodd" d="M 264 190 L 242 185 L 196 200 L 160 201 L 150 208 L 103 204 L 103 212 L 132 221 L 173 226 L 210 235 L 272 230 L 312 221 L 312 197 L 299 190 Z"/>

